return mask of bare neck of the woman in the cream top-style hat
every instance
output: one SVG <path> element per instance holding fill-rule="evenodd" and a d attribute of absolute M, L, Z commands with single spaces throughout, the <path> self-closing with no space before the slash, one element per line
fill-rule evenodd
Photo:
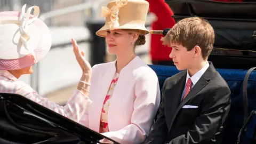
<path fill-rule="evenodd" d="M 116 55 L 116 73 L 120 73 L 120 71 L 128 65 L 129 62 L 131 62 L 137 55 L 135 53 L 133 54 L 127 54 L 119 56 Z"/>

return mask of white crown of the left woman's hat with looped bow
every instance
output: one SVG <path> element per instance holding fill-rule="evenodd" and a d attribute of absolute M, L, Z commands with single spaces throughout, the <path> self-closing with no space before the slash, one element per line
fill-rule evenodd
<path fill-rule="evenodd" d="M 38 18 L 39 7 L 31 6 L 27 12 L 25 8 L 26 4 L 23 5 L 19 15 L 5 12 L 1 14 L 0 59 L 18 59 L 28 54 L 35 58 L 34 49 L 39 43 L 39 37 L 34 21 Z M 34 9 L 33 15 L 30 14 L 32 9 Z"/>

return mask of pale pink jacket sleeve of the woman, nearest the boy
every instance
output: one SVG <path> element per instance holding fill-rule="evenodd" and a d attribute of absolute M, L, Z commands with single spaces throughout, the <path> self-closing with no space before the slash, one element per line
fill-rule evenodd
<path fill-rule="evenodd" d="M 118 131 L 102 133 L 103 135 L 120 143 L 141 143 L 145 140 L 160 103 L 156 74 L 141 75 L 135 82 L 134 93 L 131 124 Z"/>

